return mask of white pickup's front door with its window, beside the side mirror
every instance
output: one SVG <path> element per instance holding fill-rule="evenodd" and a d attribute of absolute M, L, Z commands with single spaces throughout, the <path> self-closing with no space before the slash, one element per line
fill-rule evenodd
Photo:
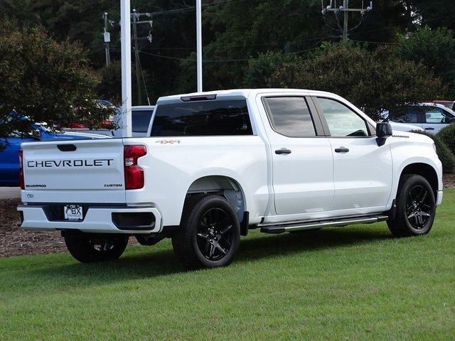
<path fill-rule="evenodd" d="M 331 210 L 363 214 L 382 210 L 392 189 L 390 146 L 378 146 L 373 126 L 346 104 L 317 98 L 333 153 L 335 197 Z"/>

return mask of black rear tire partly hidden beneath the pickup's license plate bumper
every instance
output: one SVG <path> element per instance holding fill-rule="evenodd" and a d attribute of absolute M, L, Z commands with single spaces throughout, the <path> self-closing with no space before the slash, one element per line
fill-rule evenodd
<path fill-rule="evenodd" d="M 87 234 L 65 237 L 65 244 L 77 261 L 95 263 L 119 259 L 127 248 L 128 236 L 91 238 Z"/>

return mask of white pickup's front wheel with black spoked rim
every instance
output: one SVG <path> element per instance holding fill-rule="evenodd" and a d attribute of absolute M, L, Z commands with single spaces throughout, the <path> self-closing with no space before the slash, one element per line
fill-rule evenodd
<path fill-rule="evenodd" d="M 433 226 L 436 202 L 432 186 L 420 175 L 403 175 L 396 198 L 397 210 L 387 220 L 395 237 L 412 237 L 427 234 Z"/>

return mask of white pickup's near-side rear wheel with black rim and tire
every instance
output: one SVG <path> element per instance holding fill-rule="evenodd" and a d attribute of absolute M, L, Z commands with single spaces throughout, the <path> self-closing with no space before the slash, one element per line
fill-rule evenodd
<path fill-rule="evenodd" d="M 208 195 L 189 200 L 172 247 L 186 269 L 218 268 L 234 259 L 240 224 L 225 197 Z"/>

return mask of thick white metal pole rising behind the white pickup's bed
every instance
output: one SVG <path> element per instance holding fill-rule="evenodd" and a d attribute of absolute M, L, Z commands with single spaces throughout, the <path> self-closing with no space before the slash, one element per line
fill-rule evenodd
<path fill-rule="evenodd" d="M 120 0 L 120 25 L 122 26 L 122 120 L 119 126 L 122 137 L 132 136 L 131 90 L 131 5 L 130 0 Z"/>

